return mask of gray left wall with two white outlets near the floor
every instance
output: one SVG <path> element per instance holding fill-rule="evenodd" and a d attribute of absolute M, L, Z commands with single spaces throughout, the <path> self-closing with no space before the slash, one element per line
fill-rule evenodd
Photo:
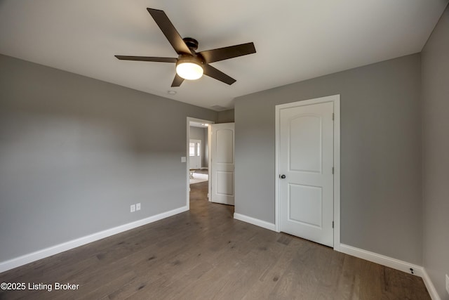
<path fill-rule="evenodd" d="M 187 117 L 217 112 L 8 56 L 0 66 L 0 261 L 185 206 Z"/>

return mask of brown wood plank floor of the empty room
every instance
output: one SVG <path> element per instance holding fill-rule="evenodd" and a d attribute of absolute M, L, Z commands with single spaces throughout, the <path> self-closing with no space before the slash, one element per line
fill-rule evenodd
<path fill-rule="evenodd" d="M 191 187 L 190 211 L 1 273 L 53 290 L 0 299 L 430 299 L 421 278 L 234 220 Z"/>

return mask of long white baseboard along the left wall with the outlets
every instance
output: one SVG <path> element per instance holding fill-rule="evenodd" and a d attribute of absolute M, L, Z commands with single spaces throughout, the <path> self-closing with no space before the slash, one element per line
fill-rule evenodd
<path fill-rule="evenodd" d="M 180 207 L 178 209 L 173 209 L 171 211 L 166 211 L 161 214 L 156 214 L 155 216 L 149 216 L 148 218 L 134 221 L 131 223 L 123 224 L 114 228 L 109 228 L 107 230 L 102 230 L 98 233 L 93 233 L 92 235 L 86 235 L 85 237 L 79 237 L 76 240 L 71 240 L 69 242 L 63 242 L 62 244 L 57 244 L 46 249 L 42 249 L 36 252 L 25 254 L 15 259 L 10 259 L 8 261 L 0 262 L 0 273 L 6 270 L 11 270 L 17 268 L 18 266 L 23 266 L 27 263 L 37 261 L 39 259 L 44 259 L 48 256 L 52 256 L 61 252 L 65 252 L 69 249 L 73 249 L 83 244 L 88 244 L 90 242 L 95 242 L 96 240 L 101 240 L 102 238 L 109 237 L 111 235 L 116 235 L 117 233 L 123 233 L 123 231 L 137 228 L 149 223 L 159 221 L 161 219 L 168 218 L 169 216 L 174 216 L 175 214 L 180 214 L 184 211 L 188 211 L 189 207 Z"/>

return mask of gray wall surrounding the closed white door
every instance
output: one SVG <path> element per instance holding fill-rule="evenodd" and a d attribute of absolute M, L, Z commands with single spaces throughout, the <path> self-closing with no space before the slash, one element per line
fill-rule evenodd
<path fill-rule="evenodd" d="M 236 213 L 274 223 L 275 105 L 333 94 L 341 242 L 421 265 L 419 54 L 236 98 Z"/>

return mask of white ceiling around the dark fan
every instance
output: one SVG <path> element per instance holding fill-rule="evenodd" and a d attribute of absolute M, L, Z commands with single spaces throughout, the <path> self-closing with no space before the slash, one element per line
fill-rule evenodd
<path fill-rule="evenodd" d="M 420 52 L 448 1 L 0 0 L 0 53 L 232 108 L 248 93 Z M 231 86 L 202 77 L 171 88 L 174 64 L 114 58 L 177 57 L 147 7 L 165 11 L 198 51 L 253 41 L 257 53 L 211 64 L 237 80 Z"/>

